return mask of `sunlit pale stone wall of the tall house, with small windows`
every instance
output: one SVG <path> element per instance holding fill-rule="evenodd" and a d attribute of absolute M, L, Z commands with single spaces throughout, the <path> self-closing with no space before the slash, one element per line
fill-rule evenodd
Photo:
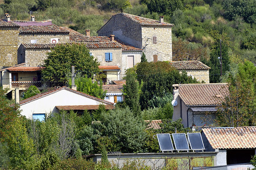
<path fill-rule="evenodd" d="M 142 49 L 148 62 L 157 55 L 158 61 L 172 61 L 171 27 L 142 27 Z M 153 43 L 156 37 L 156 44 Z"/>

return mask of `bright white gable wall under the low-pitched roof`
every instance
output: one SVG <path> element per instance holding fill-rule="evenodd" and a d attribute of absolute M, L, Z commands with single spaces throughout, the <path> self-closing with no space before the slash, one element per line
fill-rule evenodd
<path fill-rule="evenodd" d="M 32 118 L 33 113 L 53 113 L 57 112 L 54 107 L 58 105 L 99 105 L 100 101 L 90 99 L 68 90 L 60 90 L 51 95 L 42 97 L 30 103 L 21 104 L 20 110 L 23 116 Z M 105 104 L 105 103 L 103 103 Z"/>

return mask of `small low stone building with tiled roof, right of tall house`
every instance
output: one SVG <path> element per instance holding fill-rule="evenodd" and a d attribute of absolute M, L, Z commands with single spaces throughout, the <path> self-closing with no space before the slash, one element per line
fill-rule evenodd
<path fill-rule="evenodd" d="M 170 65 L 179 70 L 184 70 L 188 76 L 192 76 L 199 82 L 209 83 L 209 69 L 207 65 L 200 61 L 171 61 Z"/>

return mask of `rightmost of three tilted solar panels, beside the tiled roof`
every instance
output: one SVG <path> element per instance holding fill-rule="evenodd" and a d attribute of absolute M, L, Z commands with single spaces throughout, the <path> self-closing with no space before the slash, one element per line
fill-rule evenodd
<path fill-rule="evenodd" d="M 200 133 L 187 133 L 191 150 L 204 150 L 204 143 Z"/>

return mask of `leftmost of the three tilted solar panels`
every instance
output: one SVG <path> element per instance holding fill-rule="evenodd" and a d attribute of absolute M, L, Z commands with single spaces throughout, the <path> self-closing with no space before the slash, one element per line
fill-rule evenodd
<path fill-rule="evenodd" d="M 169 133 L 157 134 L 157 140 L 161 151 L 173 151 L 173 142 Z"/>

